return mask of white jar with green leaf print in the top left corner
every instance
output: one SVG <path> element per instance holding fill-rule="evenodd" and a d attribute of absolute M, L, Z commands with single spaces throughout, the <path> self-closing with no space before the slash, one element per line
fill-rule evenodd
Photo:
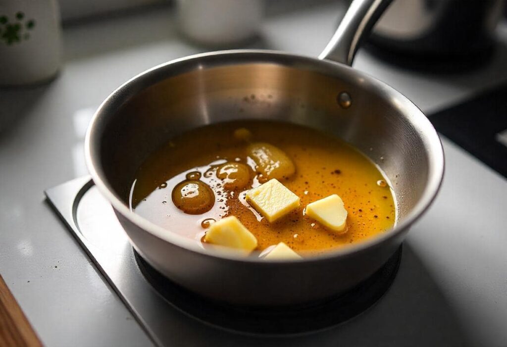
<path fill-rule="evenodd" d="M 58 72 L 60 63 L 57 1 L 0 1 L 0 85 L 45 82 Z"/>

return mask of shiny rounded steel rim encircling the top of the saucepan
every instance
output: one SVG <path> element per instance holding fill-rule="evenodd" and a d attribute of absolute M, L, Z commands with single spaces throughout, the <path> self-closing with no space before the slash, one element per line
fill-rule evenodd
<path fill-rule="evenodd" d="M 196 67 L 203 68 L 203 62 L 207 63 L 205 65 L 207 68 L 232 65 L 231 61 L 234 60 L 239 61 L 239 63 L 273 63 L 295 68 L 306 67 L 307 69 L 312 67 L 318 68 L 320 72 L 326 73 L 328 75 L 331 71 L 335 73 L 340 72 L 339 74 L 342 76 L 348 76 L 349 78 L 354 78 L 356 80 L 360 79 L 362 83 L 368 82 L 371 87 L 375 88 L 379 92 L 394 98 L 396 100 L 395 106 L 398 109 L 404 109 L 404 111 L 400 111 L 400 113 L 405 115 L 410 114 L 410 116 L 406 118 L 421 134 L 421 138 L 425 142 L 425 148 L 428 149 L 428 157 L 430 158 L 428 165 L 428 178 L 423 194 L 421 198 L 416 202 L 415 206 L 411 209 L 411 211 L 403 218 L 403 220 L 399 221 L 394 226 L 394 228 L 387 230 L 385 233 L 358 244 L 327 251 L 319 255 L 298 260 L 266 261 L 258 257 L 244 257 L 238 254 L 238 252 L 227 252 L 223 249 L 204 249 L 202 247 L 199 247 L 198 243 L 196 243 L 195 240 L 191 240 L 176 233 L 172 233 L 170 230 L 156 225 L 148 219 L 143 218 L 140 215 L 130 211 L 128 206 L 122 202 L 122 200 L 115 194 L 113 189 L 110 189 L 109 185 L 106 183 L 106 180 L 102 179 L 102 175 L 97 169 L 100 167 L 100 162 L 99 157 L 94 156 L 94 141 L 92 141 L 96 138 L 97 123 L 103 119 L 104 114 L 107 114 L 108 110 L 116 109 L 124 101 L 128 100 L 130 96 L 134 95 L 144 88 L 147 88 L 149 85 L 153 85 L 154 81 L 160 82 L 163 79 L 169 78 L 170 75 L 160 73 L 163 70 L 170 71 L 170 69 L 173 67 L 177 68 L 178 65 L 183 65 L 184 68 L 186 68 L 188 71 L 191 71 Z M 299 64 L 288 64 L 288 62 L 301 63 L 301 66 Z M 188 71 L 180 71 L 175 75 Z M 162 78 L 160 76 L 162 76 Z M 152 83 L 150 83 L 150 81 Z M 377 247 L 392 238 L 396 238 L 404 231 L 408 230 L 408 228 L 410 228 L 410 226 L 426 212 L 428 207 L 436 198 L 438 191 L 442 185 L 445 166 L 443 147 L 436 130 L 428 121 L 424 113 L 402 93 L 365 72 L 356 70 L 341 63 L 337 63 L 331 60 L 318 60 L 309 56 L 271 50 L 228 50 L 201 53 L 184 58 L 174 59 L 154 66 L 135 75 L 133 78 L 113 91 L 109 96 L 107 96 L 107 98 L 105 98 L 105 100 L 100 104 L 94 113 L 85 137 L 85 160 L 88 171 L 90 172 L 90 175 L 101 194 L 116 211 L 118 211 L 124 218 L 126 218 L 129 222 L 133 223 L 138 228 L 142 229 L 144 232 L 147 232 L 164 242 L 169 242 L 172 245 L 191 252 L 199 253 L 204 256 L 247 263 L 254 262 L 266 265 L 273 263 L 309 263 L 325 261 L 330 258 L 348 257 L 360 252 L 364 252 L 367 249 Z"/>

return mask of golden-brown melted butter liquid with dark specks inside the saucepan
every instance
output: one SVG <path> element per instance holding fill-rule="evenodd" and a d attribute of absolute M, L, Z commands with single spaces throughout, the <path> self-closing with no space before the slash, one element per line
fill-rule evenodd
<path fill-rule="evenodd" d="M 246 128 L 252 141 L 268 142 L 282 149 L 296 166 L 296 174 L 280 180 L 301 198 L 300 208 L 269 223 L 244 202 L 244 190 L 259 185 L 256 177 L 243 191 L 227 191 L 216 177 L 216 167 L 240 162 L 252 167 L 246 156 L 247 142 L 236 139 L 234 130 Z M 177 209 L 171 198 L 173 188 L 190 173 L 214 191 L 213 207 L 199 215 Z M 168 233 L 200 242 L 206 219 L 234 215 L 257 237 L 259 250 L 286 243 L 295 251 L 323 251 L 361 242 L 393 227 L 395 203 L 391 188 L 377 167 L 345 142 L 302 126 L 268 121 L 234 121 L 213 124 L 179 135 L 141 165 L 132 185 L 131 208 Z M 380 182 L 379 182 L 380 181 Z M 348 211 L 344 235 L 325 229 L 304 216 L 305 206 L 338 194 Z M 203 224 L 208 225 L 207 223 Z"/>

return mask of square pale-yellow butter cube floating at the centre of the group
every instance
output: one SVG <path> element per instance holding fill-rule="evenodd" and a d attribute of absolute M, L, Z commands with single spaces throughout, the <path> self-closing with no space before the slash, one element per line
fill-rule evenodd
<path fill-rule="evenodd" d="M 246 192 L 246 201 L 269 222 L 299 207 L 299 197 L 276 178 Z"/>

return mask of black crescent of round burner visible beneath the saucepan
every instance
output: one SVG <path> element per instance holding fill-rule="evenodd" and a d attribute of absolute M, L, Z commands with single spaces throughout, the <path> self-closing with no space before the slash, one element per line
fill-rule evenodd
<path fill-rule="evenodd" d="M 402 247 L 375 274 L 350 291 L 327 300 L 282 307 L 230 305 L 204 298 L 173 283 L 134 253 L 148 282 L 187 315 L 227 330 L 283 335 L 330 328 L 367 311 L 391 286 L 400 266 Z"/>

